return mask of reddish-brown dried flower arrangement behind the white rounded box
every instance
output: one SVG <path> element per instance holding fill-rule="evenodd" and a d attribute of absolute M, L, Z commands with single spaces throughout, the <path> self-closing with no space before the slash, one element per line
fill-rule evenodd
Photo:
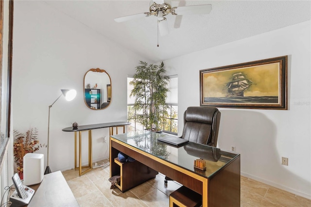
<path fill-rule="evenodd" d="M 14 160 L 17 164 L 17 172 L 19 174 L 23 173 L 23 158 L 27 153 L 34 153 L 39 150 L 40 147 L 47 147 L 46 144 L 38 144 L 39 140 L 37 139 L 38 130 L 37 128 L 31 128 L 26 132 L 26 135 L 23 133 L 14 130 L 14 135 L 17 137 L 14 140 Z"/>

